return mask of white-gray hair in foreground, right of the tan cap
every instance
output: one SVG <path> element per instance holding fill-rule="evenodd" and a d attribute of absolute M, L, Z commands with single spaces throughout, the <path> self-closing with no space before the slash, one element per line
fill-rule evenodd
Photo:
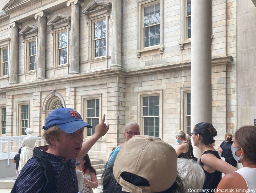
<path fill-rule="evenodd" d="M 205 180 L 205 174 L 202 166 L 197 162 L 178 158 L 177 160 L 179 176 L 184 179 L 184 189 L 188 193 L 188 189 L 202 189 Z"/>

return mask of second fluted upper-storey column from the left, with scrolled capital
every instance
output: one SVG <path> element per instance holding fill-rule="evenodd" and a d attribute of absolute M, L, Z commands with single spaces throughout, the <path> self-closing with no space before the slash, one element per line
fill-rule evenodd
<path fill-rule="evenodd" d="M 38 18 L 37 46 L 36 46 L 36 79 L 45 79 L 45 39 L 46 39 L 46 18 L 50 15 L 41 11 L 35 14 Z"/>

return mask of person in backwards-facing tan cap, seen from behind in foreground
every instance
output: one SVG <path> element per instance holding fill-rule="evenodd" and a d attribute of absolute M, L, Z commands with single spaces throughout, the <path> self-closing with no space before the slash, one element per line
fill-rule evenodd
<path fill-rule="evenodd" d="M 175 149 L 158 137 L 136 135 L 104 171 L 103 193 L 184 193 Z"/>

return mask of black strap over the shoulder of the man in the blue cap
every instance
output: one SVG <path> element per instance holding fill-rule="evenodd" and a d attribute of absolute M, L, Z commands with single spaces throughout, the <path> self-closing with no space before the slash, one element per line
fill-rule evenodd
<path fill-rule="evenodd" d="M 52 177 L 52 166 L 49 160 L 45 157 L 45 155 L 38 149 L 34 149 L 34 156 L 40 160 L 41 165 L 44 167 L 44 175 L 46 178 L 46 184 L 43 189 L 43 193 L 51 192 L 53 185 L 53 177 Z"/>

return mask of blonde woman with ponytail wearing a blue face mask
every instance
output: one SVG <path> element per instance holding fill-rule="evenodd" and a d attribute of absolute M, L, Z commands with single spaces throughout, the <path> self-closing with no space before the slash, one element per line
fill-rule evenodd
<path fill-rule="evenodd" d="M 177 131 L 174 135 L 177 143 L 179 144 L 179 147 L 176 149 L 177 157 L 194 159 L 190 136 L 185 134 L 182 130 Z"/>

